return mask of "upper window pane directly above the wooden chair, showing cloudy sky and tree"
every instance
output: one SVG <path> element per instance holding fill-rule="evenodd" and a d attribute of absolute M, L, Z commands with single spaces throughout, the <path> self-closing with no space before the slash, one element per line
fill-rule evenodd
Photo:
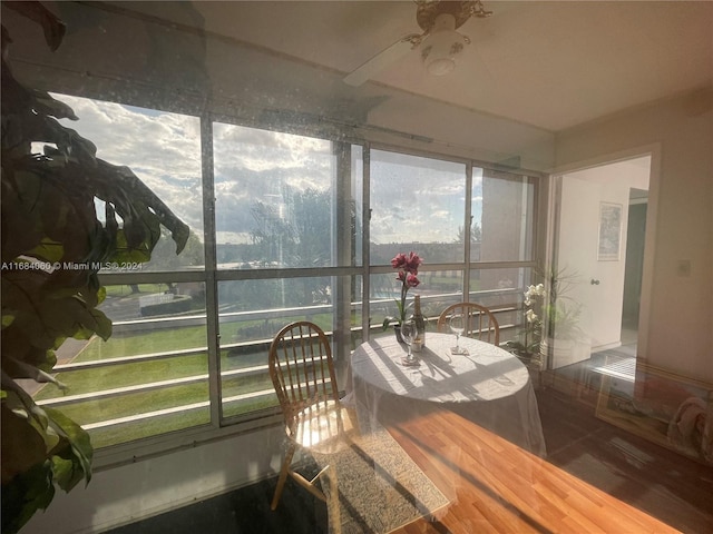
<path fill-rule="evenodd" d="M 217 261 L 225 269 L 354 265 L 356 205 L 342 147 L 255 128 L 213 126 Z M 350 158 L 351 162 L 351 158 Z"/>

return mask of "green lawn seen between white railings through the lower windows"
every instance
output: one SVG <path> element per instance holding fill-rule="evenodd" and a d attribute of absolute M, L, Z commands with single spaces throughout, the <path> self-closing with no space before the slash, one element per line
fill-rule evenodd
<path fill-rule="evenodd" d="M 115 286 L 115 291 L 118 291 Z M 126 286 L 124 286 L 126 287 Z M 144 289 L 144 286 L 141 286 Z M 158 289 L 158 286 L 156 287 Z M 128 293 L 127 289 L 124 289 Z M 119 293 L 120 294 L 120 293 Z M 296 320 L 297 318 L 295 318 Z M 332 314 L 310 316 L 310 320 L 329 330 L 332 326 Z M 356 318 L 354 320 L 358 320 Z M 271 319 L 224 323 L 221 325 L 221 338 L 224 344 L 246 342 L 251 339 L 270 339 L 285 322 Z M 139 333 L 116 334 L 108 342 L 92 338 L 72 362 L 95 362 L 108 358 L 167 353 L 186 348 L 203 348 L 207 346 L 206 327 L 187 326 L 170 329 L 153 329 Z M 224 349 L 221 352 L 222 370 L 231 370 L 255 365 L 267 364 L 267 346 L 254 348 Z M 196 354 L 170 356 L 166 358 L 124 363 L 91 369 L 68 370 L 59 373 L 57 378 L 68 386 L 61 392 L 53 385 L 47 385 L 35 394 L 38 400 L 61 397 L 62 395 L 80 395 L 106 389 L 150 384 L 175 378 L 196 375 L 207 375 L 208 363 L 205 350 Z M 273 385 L 267 375 L 263 374 L 229 376 L 222 382 L 223 397 L 232 397 L 250 392 L 272 390 Z M 166 386 L 149 392 L 137 392 L 107 398 L 94 398 L 86 402 L 60 406 L 67 416 L 79 424 L 98 423 L 141 413 L 154 412 L 194 403 L 207 402 L 208 382 L 186 385 Z M 247 399 L 224 406 L 225 416 L 241 415 L 256 409 L 276 405 L 276 397 Z M 176 414 L 168 414 L 149 419 L 120 424 L 113 427 L 90 431 L 95 447 L 128 442 L 140 437 L 148 437 L 166 432 L 187 428 L 209 423 L 209 409 L 199 408 Z"/>

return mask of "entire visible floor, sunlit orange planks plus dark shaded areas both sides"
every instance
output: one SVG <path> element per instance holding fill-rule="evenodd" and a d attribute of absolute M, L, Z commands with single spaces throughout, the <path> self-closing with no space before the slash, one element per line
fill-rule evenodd
<path fill-rule="evenodd" d="M 597 419 L 579 394 L 537 397 L 547 459 L 450 412 L 384 422 L 450 501 L 393 534 L 713 532 L 713 469 Z M 275 479 L 113 534 L 326 534 L 324 503 L 290 479 L 270 510 Z"/>

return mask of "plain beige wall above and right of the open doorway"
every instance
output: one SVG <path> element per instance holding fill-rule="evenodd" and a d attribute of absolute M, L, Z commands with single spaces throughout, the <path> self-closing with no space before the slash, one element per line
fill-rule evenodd
<path fill-rule="evenodd" d="M 564 131 L 556 164 L 655 147 L 647 214 L 639 357 L 713 382 L 713 88 Z"/>

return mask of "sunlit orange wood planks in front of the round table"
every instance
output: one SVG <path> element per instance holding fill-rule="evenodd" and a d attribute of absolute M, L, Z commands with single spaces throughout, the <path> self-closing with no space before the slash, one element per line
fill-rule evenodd
<path fill-rule="evenodd" d="M 451 412 L 383 423 L 451 501 L 397 534 L 680 532 Z M 703 515 L 700 525 L 713 527 Z"/>

